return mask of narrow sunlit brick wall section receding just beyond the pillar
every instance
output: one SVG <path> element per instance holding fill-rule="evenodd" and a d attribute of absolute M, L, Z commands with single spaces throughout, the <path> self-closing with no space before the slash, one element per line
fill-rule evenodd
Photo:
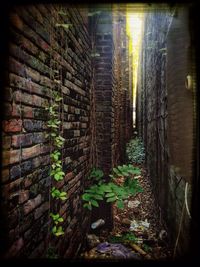
<path fill-rule="evenodd" d="M 132 135 L 133 87 L 129 39 L 125 11 L 116 8 L 113 18 L 114 41 L 114 122 L 113 166 L 125 162 L 125 147 Z"/>

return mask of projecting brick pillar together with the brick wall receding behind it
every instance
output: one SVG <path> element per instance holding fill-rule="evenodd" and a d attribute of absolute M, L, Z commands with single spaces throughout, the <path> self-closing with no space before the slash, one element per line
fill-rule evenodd
<path fill-rule="evenodd" d="M 95 34 L 97 166 L 108 180 L 112 168 L 125 162 L 125 145 L 132 131 L 132 86 L 125 12 L 109 7 L 100 11 Z M 105 219 L 112 228 L 111 205 L 103 203 L 93 218 Z"/>

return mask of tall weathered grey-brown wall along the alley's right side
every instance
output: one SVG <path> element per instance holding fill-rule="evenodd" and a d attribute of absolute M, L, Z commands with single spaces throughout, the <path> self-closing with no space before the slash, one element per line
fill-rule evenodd
<path fill-rule="evenodd" d="M 191 209 L 194 91 L 185 87 L 186 76 L 191 74 L 188 13 L 184 8 L 173 12 L 158 9 L 145 18 L 137 127 L 145 143 L 146 165 L 172 245 L 181 224 L 176 255 L 187 256 L 191 221 L 184 194 L 188 182 Z"/>

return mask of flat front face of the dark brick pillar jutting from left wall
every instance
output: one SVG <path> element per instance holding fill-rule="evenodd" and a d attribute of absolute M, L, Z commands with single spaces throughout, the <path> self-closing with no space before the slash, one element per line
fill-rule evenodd
<path fill-rule="evenodd" d="M 95 98 L 96 98 L 96 132 L 97 165 L 109 180 L 112 169 L 112 116 L 113 116 L 113 34 L 112 14 L 101 11 L 96 29 L 95 60 Z M 106 202 L 94 209 L 93 219 L 103 218 L 105 227 L 112 228 L 112 206 Z"/>

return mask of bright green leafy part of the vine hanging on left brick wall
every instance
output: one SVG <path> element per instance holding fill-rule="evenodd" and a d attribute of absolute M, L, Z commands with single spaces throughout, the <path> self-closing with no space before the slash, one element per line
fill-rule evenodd
<path fill-rule="evenodd" d="M 62 170 L 62 162 L 61 162 L 61 152 L 64 145 L 65 139 L 60 135 L 60 114 L 59 114 L 59 103 L 62 101 L 62 97 L 57 91 L 52 92 L 52 99 L 50 102 L 50 106 L 46 107 L 46 111 L 48 111 L 48 121 L 47 128 L 48 131 L 46 133 L 46 138 L 49 139 L 51 143 L 51 171 L 50 176 L 54 179 L 55 183 L 63 180 L 65 173 Z M 65 201 L 67 199 L 67 193 L 59 190 L 56 186 L 51 188 L 51 197 L 55 201 L 61 200 Z M 62 223 L 64 219 L 60 216 L 59 213 L 50 213 L 50 216 L 53 221 L 52 233 L 55 236 L 61 236 L 64 234 Z"/>

